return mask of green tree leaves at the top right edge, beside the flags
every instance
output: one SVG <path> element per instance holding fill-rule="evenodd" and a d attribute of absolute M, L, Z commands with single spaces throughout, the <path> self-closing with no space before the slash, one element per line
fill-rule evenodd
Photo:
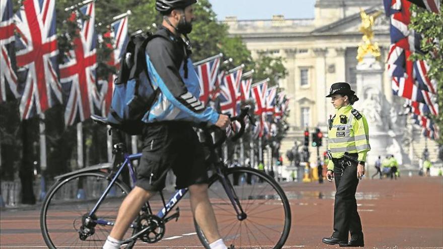
<path fill-rule="evenodd" d="M 440 5 L 440 14 L 411 5 L 412 15 L 410 29 L 423 35 L 421 48 L 429 51 L 425 54 L 415 53 L 413 59 L 425 60 L 429 65 L 428 75 L 437 82 L 438 116 L 435 122 L 439 128 L 439 144 L 443 144 L 443 4 Z M 440 27 L 440 28 L 437 28 Z M 434 41 L 434 42 L 432 42 Z M 439 41 L 439 42 L 435 42 Z M 432 53 L 436 56 L 432 55 Z"/>

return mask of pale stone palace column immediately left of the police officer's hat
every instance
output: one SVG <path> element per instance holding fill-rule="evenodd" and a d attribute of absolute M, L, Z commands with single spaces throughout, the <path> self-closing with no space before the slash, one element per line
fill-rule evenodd
<path fill-rule="evenodd" d="M 317 106 L 317 124 L 312 124 L 312 126 L 325 126 L 326 125 L 326 53 L 328 50 L 326 48 L 314 48 L 313 49 L 316 62 L 315 62 L 315 72 L 316 72 L 316 106 Z"/>

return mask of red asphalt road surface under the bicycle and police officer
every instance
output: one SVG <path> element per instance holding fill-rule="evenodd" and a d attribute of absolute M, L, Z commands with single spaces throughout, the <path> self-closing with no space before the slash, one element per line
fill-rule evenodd
<path fill-rule="evenodd" d="M 334 184 L 284 183 L 292 211 L 285 248 L 338 248 L 321 242 L 332 232 Z M 202 248 L 185 199 L 178 222 L 166 226 L 164 241 L 136 248 Z M 443 247 L 443 179 L 362 180 L 357 205 L 367 248 Z M 40 207 L 0 212 L 0 248 L 46 248 L 40 233 Z M 170 238 L 170 239 L 168 239 Z"/>

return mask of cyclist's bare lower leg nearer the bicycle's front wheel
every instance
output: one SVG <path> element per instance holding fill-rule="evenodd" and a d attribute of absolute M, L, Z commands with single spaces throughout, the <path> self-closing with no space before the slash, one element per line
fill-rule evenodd
<path fill-rule="evenodd" d="M 209 243 L 220 238 L 214 210 L 209 202 L 207 194 L 207 184 L 194 184 L 189 186 L 191 210 L 197 224 Z"/>

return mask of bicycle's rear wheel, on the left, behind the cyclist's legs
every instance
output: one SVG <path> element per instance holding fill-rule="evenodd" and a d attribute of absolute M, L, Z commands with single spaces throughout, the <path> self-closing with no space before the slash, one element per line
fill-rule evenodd
<path fill-rule="evenodd" d="M 81 173 L 61 180 L 48 191 L 40 213 L 43 238 L 51 249 L 56 248 L 101 248 L 112 225 L 96 224 L 89 236 L 81 239 L 79 230 L 82 219 L 96 205 L 109 184 L 106 174 L 101 172 Z M 130 189 L 117 180 L 103 199 L 95 218 L 114 222 L 123 199 Z M 124 238 L 131 236 L 129 228 Z"/>

